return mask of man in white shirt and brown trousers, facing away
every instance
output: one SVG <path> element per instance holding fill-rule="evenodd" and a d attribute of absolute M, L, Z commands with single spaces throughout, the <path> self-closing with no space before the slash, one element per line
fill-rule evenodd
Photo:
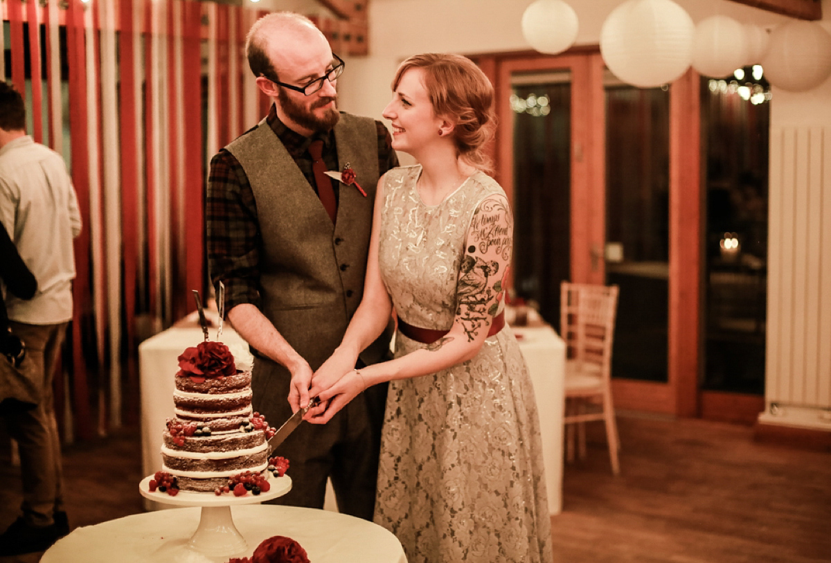
<path fill-rule="evenodd" d="M 2 414 L 17 440 L 23 485 L 22 515 L 0 536 L 0 556 L 9 556 L 43 551 L 69 532 L 52 376 L 72 318 L 72 238 L 81 233 L 81 213 L 66 164 L 26 135 L 26 106 L 6 82 L 0 82 L 0 223 L 38 286 L 29 300 L 5 296 L 9 326 L 26 347 L 20 368 L 39 392 L 34 407 Z"/>

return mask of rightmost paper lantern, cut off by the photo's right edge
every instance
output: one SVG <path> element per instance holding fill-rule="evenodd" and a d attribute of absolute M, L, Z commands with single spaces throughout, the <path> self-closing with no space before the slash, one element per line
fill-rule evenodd
<path fill-rule="evenodd" d="M 791 92 L 810 90 L 831 75 L 831 34 L 819 23 L 793 20 L 770 33 L 762 61 L 770 84 Z"/>

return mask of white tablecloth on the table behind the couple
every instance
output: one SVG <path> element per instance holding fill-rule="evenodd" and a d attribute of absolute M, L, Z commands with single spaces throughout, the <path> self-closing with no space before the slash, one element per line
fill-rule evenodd
<path fill-rule="evenodd" d="M 550 326 L 514 326 L 519 347 L 529 365 L 534 392 L 537 397 L 539 423 L 543 434 L 543 456 L 548 487 L 548 510 L 559 514 L 563 489 L 563 373 L 565 344 Z M 216 340 L 216 330 L 211 330 Z M 177 358 L 188 346 L 204 340 L 199 327 L 173 327 L 160 332 L 139 346 L 141 381 L 141 444 L 145 475 L 161 467 L 162 431 L 165 420 L 173 416 L 174 375 Z M 243 343 L 242 338 L 224 328 L 219 339 L 228 345 Z M 281 421 L 269 421 L 273 424 Z M 332 494 L 327 495 L 327 507 L 332 507 Z M 145 500 L 148 509 L 158 508 Z"/>

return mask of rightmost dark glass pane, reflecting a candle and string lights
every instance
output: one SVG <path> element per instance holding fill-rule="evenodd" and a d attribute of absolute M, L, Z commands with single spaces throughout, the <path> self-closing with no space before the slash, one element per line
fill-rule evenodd
<path fill-rule="evenodd" d="M 703 388 L 764 394 L 770 87 L 753 70 L 701 80 Z"/>

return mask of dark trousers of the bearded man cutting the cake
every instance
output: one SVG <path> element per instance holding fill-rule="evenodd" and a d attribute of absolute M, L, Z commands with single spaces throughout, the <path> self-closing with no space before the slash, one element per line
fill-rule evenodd
<path fill-rule="evenodd" d="M 275 428 L 292 415 L 290 379 L 282 365 L 261 358 L 254 361 L 253 409 Z M 372 520 L 386 388 L 382 384 L 366 389 L 327 424 L 301 423 L 280 444 L 274 455 L 288 459 L 292 490 L 274 499 L 274 504 L 322 508 L 331 478 L 338 511 Z"/>

